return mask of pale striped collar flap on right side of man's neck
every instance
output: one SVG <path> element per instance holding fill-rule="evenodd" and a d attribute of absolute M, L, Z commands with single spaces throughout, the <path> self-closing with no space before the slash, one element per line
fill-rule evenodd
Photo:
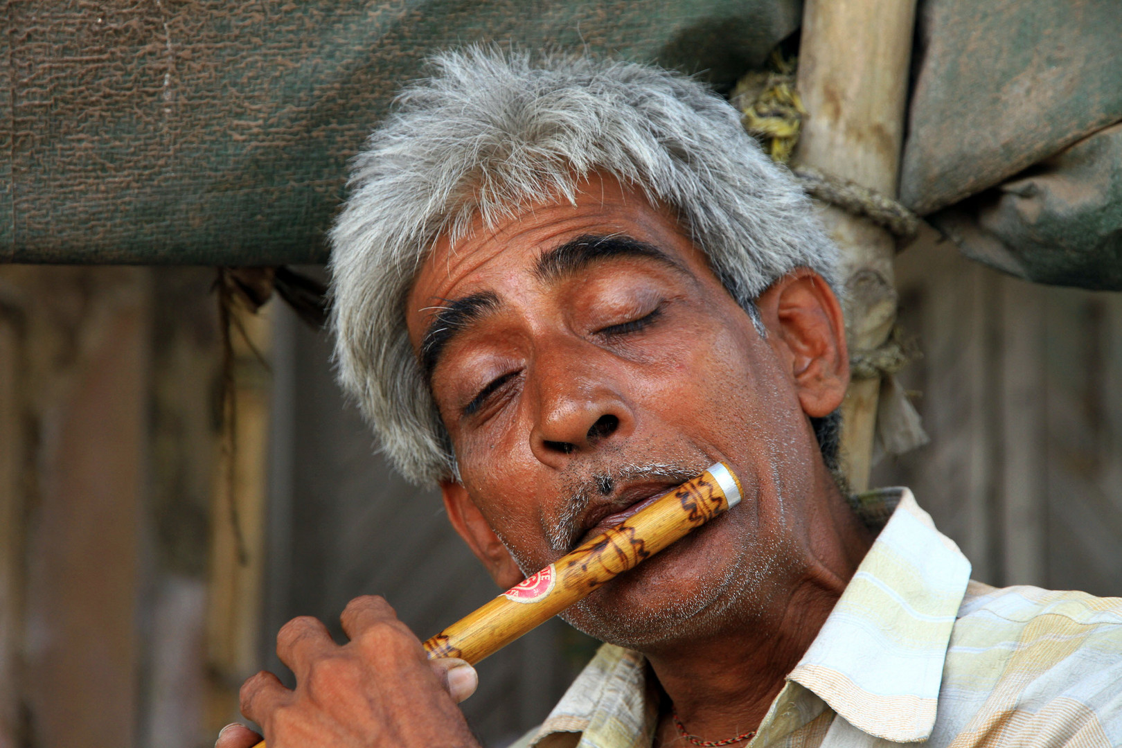
<path fill-rule="evenodd" d="M 942 665 L 971 564 L 911 491 L 788 676 L 854 727 L 895 742 L 935 727 Z"/>

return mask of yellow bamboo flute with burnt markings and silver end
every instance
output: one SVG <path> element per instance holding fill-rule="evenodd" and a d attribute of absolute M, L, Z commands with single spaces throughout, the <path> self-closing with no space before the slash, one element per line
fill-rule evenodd
<path fill-rule="evenodd" d="M 733 471 L 710 465 L 425 641 L 429 659 L 475 665 L 739 502 Z"/>

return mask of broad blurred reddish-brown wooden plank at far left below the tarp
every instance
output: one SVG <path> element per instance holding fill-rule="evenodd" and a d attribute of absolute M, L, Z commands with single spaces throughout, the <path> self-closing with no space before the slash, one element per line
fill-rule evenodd
<path fill-rule="evenodd" d="M 29 745 L 136 742 L 149 271 L 34 268 L 25 347 Z"/>

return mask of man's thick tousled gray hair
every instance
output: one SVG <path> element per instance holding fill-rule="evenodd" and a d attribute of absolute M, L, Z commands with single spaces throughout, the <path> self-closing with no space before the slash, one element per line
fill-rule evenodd
<path fill-rule="evenodd" d="M 355 157 L 330 234 L 340 382 L 408 480 L 458 471 L 405 299 L 438 238 L 454 243 L 476 216 L 490 227 L 543 198 L 572 202 L 600 172 L 675 211 L 756 322 L 754 299 L 794 268 L 837 288 L 837 250 L 810 201 L 703 84 L 636 63 L 485 47 L 431 66 Z"/>

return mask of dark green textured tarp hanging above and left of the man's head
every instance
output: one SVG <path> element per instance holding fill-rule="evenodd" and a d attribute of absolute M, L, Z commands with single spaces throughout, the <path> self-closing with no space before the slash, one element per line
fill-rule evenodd
<path fill-rule="evenodd" d="M 224 265 L 325 258 L 346 159 L 433 50 L 587 44 L 735 79 L 801 18 L 800 3 L 772 0 L 4 9 L 0 258 Z"/>

